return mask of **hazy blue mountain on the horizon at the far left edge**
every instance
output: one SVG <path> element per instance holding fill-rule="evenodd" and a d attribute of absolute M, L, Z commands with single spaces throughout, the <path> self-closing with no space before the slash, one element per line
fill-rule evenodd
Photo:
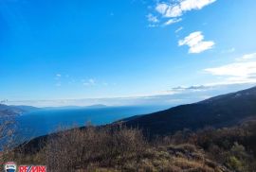
<path fill-rule="evenodd" d="M 13 115 L 22 114 L 24 112 L 32 112 L 37 110 L 40 110 L 40 109 L 32 106 L 8 106 L 8 105 L 0 104 L 0 117 L 13 116 Z"/>

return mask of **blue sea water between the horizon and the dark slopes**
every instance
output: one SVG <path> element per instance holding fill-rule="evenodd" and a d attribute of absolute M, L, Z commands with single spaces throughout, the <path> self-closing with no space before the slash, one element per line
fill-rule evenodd
<path fill-rule="evenodd" d="M 40 110 L 27 112 L 16 117 L 17 133 L 22 140 L 46 135 L 58 129 L 82 127 L 86 122 L 104 125 L 137 114 L 146 114 L 168 109 L 167 106 L 130 106 L 81 108 L 67 110 Z"/>

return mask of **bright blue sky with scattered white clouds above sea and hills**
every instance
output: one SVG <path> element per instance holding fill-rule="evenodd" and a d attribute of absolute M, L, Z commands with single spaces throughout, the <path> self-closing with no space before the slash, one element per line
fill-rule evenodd
<path fill-rule="evenodd" d="M 124 105 L 253 86 L 255 9 L 254 0 L 0 0 L 0 100 Z"/>

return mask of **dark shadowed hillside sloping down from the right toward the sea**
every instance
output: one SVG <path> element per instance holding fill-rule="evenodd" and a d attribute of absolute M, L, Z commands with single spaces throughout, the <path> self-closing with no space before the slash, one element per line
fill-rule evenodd
<path fill-rule="evenodd" d="M 256 117 L 256 87 L 162 112 L 133 116 L 121 122 L 153 135 L 163 135 L 181 129 L 229 127 L 251 116 Z"/>

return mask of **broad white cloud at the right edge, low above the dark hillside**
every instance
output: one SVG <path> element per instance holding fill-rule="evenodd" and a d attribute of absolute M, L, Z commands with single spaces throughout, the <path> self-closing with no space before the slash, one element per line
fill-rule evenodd
<path fill-rule="evenodd" d="M 247 54 L 226 65 L 207 68 L 204 71 L 213 76 L 223 77 L 226 83 L 256 82 L 256 53 Z"/>

